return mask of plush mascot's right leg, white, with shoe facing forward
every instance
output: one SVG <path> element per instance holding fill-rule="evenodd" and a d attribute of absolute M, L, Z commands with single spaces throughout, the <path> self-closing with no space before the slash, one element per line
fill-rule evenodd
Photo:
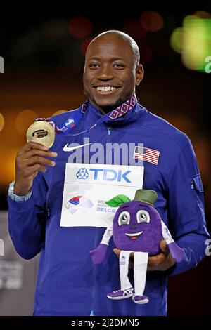
<path fill-rule="evenodd" d="M 148 264 L 147 252 L 134 252 L 134 289 L 135 293 L 132 296 L 134 303 L 148 303 L 149 298 L 143 296 L 143 291 L 146 284 L 146 270 Z"/>

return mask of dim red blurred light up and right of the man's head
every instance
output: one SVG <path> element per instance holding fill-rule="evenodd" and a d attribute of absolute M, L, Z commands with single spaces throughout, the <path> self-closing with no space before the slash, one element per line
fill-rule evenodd
<path fill-rule="evenodd" d="M 140 17 L 141 25 L 149 32 L 156 32 L 162 29 L 164 21 L 157 11 L 144 11 Z"/>

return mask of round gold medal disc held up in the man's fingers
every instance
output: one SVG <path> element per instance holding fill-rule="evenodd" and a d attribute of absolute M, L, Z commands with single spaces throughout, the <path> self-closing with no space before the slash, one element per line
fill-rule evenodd
<path fill-rule="evenodd" d="M 27 142 L 37 142 L 52 147 L 55 140 L 54 128 L 47 121 L 34 121 L 27 129 Z"/>

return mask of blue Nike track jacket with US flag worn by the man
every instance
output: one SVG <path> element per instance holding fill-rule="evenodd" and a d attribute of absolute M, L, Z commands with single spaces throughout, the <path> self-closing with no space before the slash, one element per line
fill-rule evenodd
<path fill-rule="evenodd" d="M 52 119 L 61 127 L 70 114 L 65 112 Z M 89 103 L 71 133 L 86 131 L 102 116 Z M 93 265 L 89 253 L 101 242 L 105 228 L 60 227 L 65 163 L 70 156 L 63 147 L 68 143 L 82 145 L 84 138 L 103 145 L 143 143 L 144 147 L 160 152 L 157 165 L 144 161 L 143 188 L 158 193 L 155 207 L 174 240 L 184 248 L 186 261 L 171 271 L 147 273 L 144 294 L 150 301 L 146 305 L 135 304 L 130 298 L 120 301 L 107 298 L 107 293 L 120 287 L 113 239 L 102 265 Z M 89 145 L 79 148 L 78 152 L 85 152 L 86 148 Z M 56 134 L 51 150 L 58 152 L 56 166 L 37 175 L 32 197 L 26 202 L 14 202 L 8 197 L 9 232 L 16 251 L 25 259 L 34 258 L 41 252 L 34 315 L 166 315 L 167 275 L 176 275 L 196 266 L 204 256 L 205 240 L 209 237 L 203 185 L 188 137 L 137 103 L 123 117 L 98 124 L 87 133 L 72 137 Z M 93 154 L 89 152 L 90 159 Z M 129 165 L 129 159 L 126 165 Z M 129 270 L 129 273 L 132 281 L 133 271 Z"/>

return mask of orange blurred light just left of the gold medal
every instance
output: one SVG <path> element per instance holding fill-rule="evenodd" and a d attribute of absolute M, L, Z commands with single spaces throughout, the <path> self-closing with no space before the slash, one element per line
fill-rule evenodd
<path fill-rule="evenodd" d="M 38 118 L 39 115 L 33 110 L 23 110 L 18 114 L 18 117 L 15 119 L 15 127 L 18 133 L 25 135 L 28 127 L 34 121 L 34 118 Z"/>

